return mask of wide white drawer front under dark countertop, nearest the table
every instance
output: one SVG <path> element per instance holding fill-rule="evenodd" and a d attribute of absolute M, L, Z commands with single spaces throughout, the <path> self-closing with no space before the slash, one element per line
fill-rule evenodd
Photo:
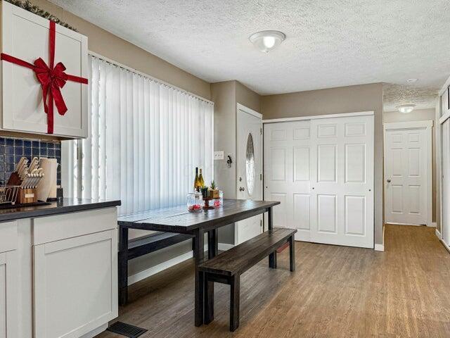
<path fill-rule="evenodd" d="M 117 228 L 117 209 L 103 208 L 33 219 L 33 244 L 39 245 Z"/>

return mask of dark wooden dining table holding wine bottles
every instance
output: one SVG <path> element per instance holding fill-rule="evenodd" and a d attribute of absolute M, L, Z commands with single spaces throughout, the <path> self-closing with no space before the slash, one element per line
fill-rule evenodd
<path fill-rule="evenodd" d="M 204 303 L 205 278 L 198 266 L 206 259 L 217 256 L 218 229 L 240 220 L 268 213 L 267 230 L 274 227 L 274 206 L 279 201 L 253 201 L 243 199 L 224 199 L 222 206 L 214 209 L 190 212 L 186 205 L 141 211 L 118 218 L 119 261 L 126 261 L 129 229 L 151 230 L 157 232 L 175 232 L 190 234 L 193 239 L 193 257 L 195 266 L 194 308 L 195 326 L 204 323 L 204 307 L 214 310 L 214 297 L 208 297 Z M 264 229 L 263 229 L 264 231 Z M 205 257 L 205 234 L 207 234 L 207 257 Z M 269 267 L 276 268 L 276 252 L 269 256 Z M 127 275 L 125 273 L 124 275 Z M 127 303 L 127 276 L 119 278 L 119 303 Z M 214 283 L 208 285 L 208 294 L 214 294 Z"/>

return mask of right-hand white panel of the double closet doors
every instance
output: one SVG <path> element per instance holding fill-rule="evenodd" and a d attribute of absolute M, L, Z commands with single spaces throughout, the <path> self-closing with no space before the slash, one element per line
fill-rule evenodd
<path fill-rule="evenodd" d="M 373 248 L 373 115 L 311 121 L 311 240 Z"/>

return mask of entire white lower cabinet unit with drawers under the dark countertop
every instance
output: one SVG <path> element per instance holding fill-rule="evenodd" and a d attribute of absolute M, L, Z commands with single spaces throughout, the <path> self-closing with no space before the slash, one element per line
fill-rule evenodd
<path fill-rule="evenodd" d="M 0 338 L 92 337 L 115 317 L 115 207 L 0 223 Z"/>

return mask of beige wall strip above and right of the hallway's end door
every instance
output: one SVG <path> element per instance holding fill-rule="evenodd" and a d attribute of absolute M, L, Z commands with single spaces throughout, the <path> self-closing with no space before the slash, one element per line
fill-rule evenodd
<path fill-rule="evenodd" d="M 436 109 L 418 109 L 412 111 L 409 114 L 399 113 L 399 111 L 387 111 L 383 113 L 383 123 L 390 122 L 405 122 L 405 121 L 421 121 L 421 120 L 432 120 L 434 121 L 436 117 Z M 432 127 L 432 221 L 439 223 L 437 221 L 436 212 L 436 125 Z M 439 227 L 439 225 L 438 225 Z"/>

